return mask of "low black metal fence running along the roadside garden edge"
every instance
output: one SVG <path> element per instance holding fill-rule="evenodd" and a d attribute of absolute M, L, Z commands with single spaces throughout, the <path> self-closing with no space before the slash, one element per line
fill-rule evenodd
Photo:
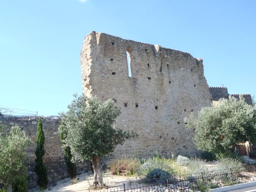
<path fill-rule="evenodd" d="M 244 170 L 215 170 L 168 176 L 151 180 L 136 180 L 129 183 L 108 186 L 101 190 L 85 189 L 84 192 L 192 192 L 210 188 L 230 186 L 233 184 L 256 181 L 255 166 L 246 166 Z"/>

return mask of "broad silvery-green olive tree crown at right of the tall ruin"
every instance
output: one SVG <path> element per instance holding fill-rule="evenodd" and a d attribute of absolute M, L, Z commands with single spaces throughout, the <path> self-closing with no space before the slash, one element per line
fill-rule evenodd
<path fill-rule="evenodd" d="M 186 127 L 195 129 L 196 148 L 208 151 L 217 158 L 233 157 L 238 143 L 256 142 L 255 110 L 240 97 L 220 99 L 218 104 L 202 108 L 198 117 L 185 118 Z"/>

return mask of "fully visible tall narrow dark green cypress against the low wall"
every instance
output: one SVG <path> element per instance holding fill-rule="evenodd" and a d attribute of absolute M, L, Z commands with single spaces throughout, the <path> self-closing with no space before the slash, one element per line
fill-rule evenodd
<path fill-rule="evenodd" d="M 36 132 L 36 159 L 35 159 L 35 172 L 37 174 L 36 182 L 38 186 L 42 189 L 47 188 L 48 178 L 47 178 L 47 171 L 43 163 L 43 156 L 44 156 L 44 131 L 42 125 L 42 119 L 38 118 L 38 126 Z"/>

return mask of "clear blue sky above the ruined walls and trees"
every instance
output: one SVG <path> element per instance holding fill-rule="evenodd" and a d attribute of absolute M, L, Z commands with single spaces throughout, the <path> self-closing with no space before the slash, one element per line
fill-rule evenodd
<path fill-rule="evenodd" d="M 2 0 L 0 106 L 66 111 L 91 31 L 189 52 L 209 86 L 256 95 L 255 0 Z"/>

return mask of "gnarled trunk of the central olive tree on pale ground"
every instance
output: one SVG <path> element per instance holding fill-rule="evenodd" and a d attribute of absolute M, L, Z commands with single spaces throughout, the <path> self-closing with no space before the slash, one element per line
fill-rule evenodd
<path fill-rule="evenodd" d="M 95 157 L 91 161 L 92 161 L 92 168 L 94 171 L 93 187 L 96 187 L 96 188 L 103 187 L 104 184 L 103 184 L 103 178 L 102 178 L 100 157 Z"/>

